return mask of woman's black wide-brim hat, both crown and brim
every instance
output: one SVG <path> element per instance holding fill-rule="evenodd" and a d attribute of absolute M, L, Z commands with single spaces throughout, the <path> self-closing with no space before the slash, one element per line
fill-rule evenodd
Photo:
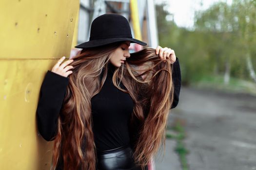
<path fill-rule="evenodd" d="M 98 47 L 119 41 L 147 45 L 147 43 L 132 37 L 131 27 L 125 17 L 118 14 L 103 14 L 93 20 L 89 41 L 79 44 L 75 48 Z"/>

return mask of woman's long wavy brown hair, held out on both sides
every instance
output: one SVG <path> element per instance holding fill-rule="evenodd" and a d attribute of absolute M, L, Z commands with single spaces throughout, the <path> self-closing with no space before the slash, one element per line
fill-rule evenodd
<path fill-rule="evenodd" d="M 92 131 L 91 98 L 106 80 L 110 54 L 122 42 L 83 49 L 70 64 L 69 75 L 54 141 L 53 166 L 59 158 L 63 170 L 95 170 L 97 152 Z M 126 87 L 122 89 L 120 82 Z M 163 62 L 155 49 L 146 47 L 131 53 L 113 74 L 113 83 L 128 93 L 135 105 L 130 120 L 133 156 L 144 170 L 161 144 L 165 148 L 167 117 L 173 102 L 172 64 Z M 171 96 L 171 97 L 170 97 Z M 136 127 L 136 128 L 132 128 Z M 83 147 L 84 146 L 84 147 Z"/>

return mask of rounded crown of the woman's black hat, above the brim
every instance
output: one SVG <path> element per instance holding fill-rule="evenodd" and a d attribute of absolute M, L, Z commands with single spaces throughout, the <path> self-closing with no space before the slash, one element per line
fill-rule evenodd
<path fill-rule="evenodd" d="M 93 20 L 90 40 L 117 37 L 132 38 L 130 24 L 125 17 L 118 14 L 104 14 Z"/>

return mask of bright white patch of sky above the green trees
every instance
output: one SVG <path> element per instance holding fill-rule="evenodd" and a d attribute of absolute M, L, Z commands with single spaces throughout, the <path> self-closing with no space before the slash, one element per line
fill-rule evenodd
<path fill-rule="evenodd" d="M 195 10 L 205 10 L 218 1 L 232 3 L 232 0 L 155 0 L 155 3 L 163 1 L 167 2 L 165 10 L 174 15 L 175 23 L 188 29 L 193 28 Z"/>

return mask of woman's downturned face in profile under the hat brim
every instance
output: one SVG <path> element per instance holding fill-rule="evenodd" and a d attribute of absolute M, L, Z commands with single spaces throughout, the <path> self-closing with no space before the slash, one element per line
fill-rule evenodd
<path fill-rule="evenodd" d="M 130 44 L 130 41 L 125 41 L 110 54 L 109 60 L 115 67 L 120 67 L 124 63 L 122 60 L 126 60 L 126 57 L 130 57 L 128 50 Z"/>

